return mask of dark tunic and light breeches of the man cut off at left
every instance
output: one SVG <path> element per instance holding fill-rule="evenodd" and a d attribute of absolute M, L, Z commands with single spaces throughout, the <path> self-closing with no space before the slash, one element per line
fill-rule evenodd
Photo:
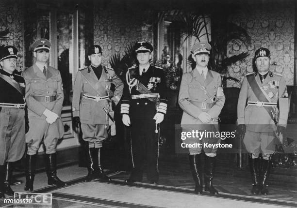
<path fill-rule="evenodd" d="M 0 77 L 0 103 L 25 104 L 25 80 L 17 74 L 0 70 L 0 74 L 12 79 L 22 94 Z M 19 160 L 25 151 L 25 114 L 24 108 L 0 106 L 0 165 Z"/>

